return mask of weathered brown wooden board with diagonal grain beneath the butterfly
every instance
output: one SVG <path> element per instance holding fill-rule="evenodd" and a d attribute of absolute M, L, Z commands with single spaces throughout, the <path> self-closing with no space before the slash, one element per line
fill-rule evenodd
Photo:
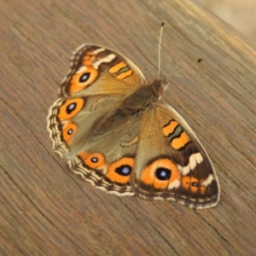
<path fill-rule="evenodd" d="M 255 255 L 256 53 L 190 1 L 0 0 L 1 255 Z M 51 151 L 49 106 L 80 44 L 103 44 L 154 79 L 160 20 L 166 102 L 201 139 L 218 173 L 217 207 L 116 197 Z"/>

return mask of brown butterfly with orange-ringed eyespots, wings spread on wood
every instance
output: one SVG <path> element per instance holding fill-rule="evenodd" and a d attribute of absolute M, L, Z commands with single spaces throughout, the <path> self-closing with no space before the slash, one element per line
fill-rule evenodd
<path fill-rule="evenodd" d="M 53 150 L 71 171 L 114 195 L 166 199 L 202 209 L 219 199 L 218 177 L 184 119 L 124 55 L 83 44 L 49 108 Z"/>

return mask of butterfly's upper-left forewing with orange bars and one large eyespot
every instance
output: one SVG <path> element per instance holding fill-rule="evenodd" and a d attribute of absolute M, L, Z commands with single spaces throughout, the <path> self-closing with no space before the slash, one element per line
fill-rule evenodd
<path fill-rule="evenodd" d="M 99 45 L 83 44 L 73 53 L 61 95 L 127 94 L 145 82 L 143 73 L 125 56 Z"/>

